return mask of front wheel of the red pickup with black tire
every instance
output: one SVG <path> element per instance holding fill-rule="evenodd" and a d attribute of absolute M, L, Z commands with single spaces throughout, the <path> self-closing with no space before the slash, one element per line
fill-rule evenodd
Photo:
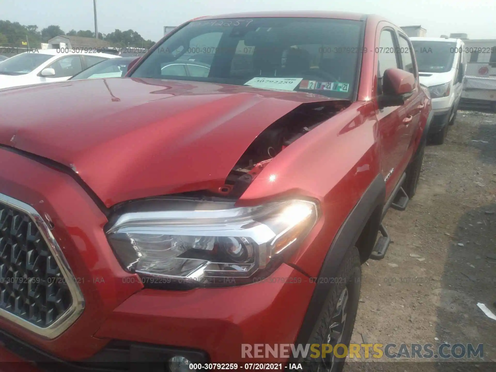
<path fill-rule="evenodd" d="M 326 303 L 320 317 L 316 320 L 309 344 L 330 344 L 332 353 L 322 358 L 311 358 L 309 352 L 305 362 L 305 371 L 311 372 L 341 372 L 346 357 L 334 355 L 334 347 L 346 345 L 337 349 L 337 355 L 344 355 L 350 347 L 351 335 L 357 317 L 361 285 L 360 255 L 356 247 L 346 253 L 338 275 L 332 284 Z M 320 349 L 322 351 L 322 348 Z"/>

